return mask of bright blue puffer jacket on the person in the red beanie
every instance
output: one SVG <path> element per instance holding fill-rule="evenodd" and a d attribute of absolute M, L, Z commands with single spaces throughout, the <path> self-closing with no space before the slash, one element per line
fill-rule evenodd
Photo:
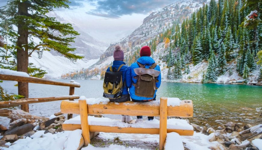
<path fill-rule="evenodd" d="M 152 64 L 155 63 L 154 59 L 149 57 L 149 56 L 142 56 L 137 60 L 137 62 L 139 62 L 140 64 L 143 64 L 143 65 L 147 64 L 147 65 L 145 65 L 145 68 L 149 68 Z M 136 75 L 134 69 L 139 68 L 139 65 L 135 62 L 135 63 L 131 64 L 130 68 L 131 68 L 131 79 L 132 79 L 133 83 L 136 84 L 137 79 L 135 79 L 134 77 L 137 76 L 137 75 Z M 158 65 L 154 69 L 161 71 L 160 67 Z M 160 84 L 161 84 L 161 73 L 159 74 L 157 80 L 158 80 L 158 82 L 156 82 L 156 87 L 159 88 Z M 157 90 L 155 91 L 153 98 L 156 97 L 156 92 L 157 92 Z M 130 97 L 132 99 L 135 99 L 135 100 L 151 100 L 151 99 L 153 99 L 153 98 L 146 98 L 146 97 L 141 97 L 141 96 L 135 95 L 135 87 L 134 87 L 133 84 L 129 88 L 129 93 L 130 93 Z"/>

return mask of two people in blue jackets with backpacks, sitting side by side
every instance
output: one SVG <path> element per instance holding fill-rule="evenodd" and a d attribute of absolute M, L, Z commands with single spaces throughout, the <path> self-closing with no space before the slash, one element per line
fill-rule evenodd
<path fill-rule="evenodd" d="M 156 99 L 157 89 L 161 84 L 161 70 L 151 58 L 149 46 L 140 50 L 140 58 L 128 67 L 124 60 L 124 52 L 119 45 L 115 46 L 113 65 L 108 67 L 104 76 L 104 94 L 114 102 L 130 101 L 147 102 Z M 129 88 L 129 93 L 128 93 Z M 154 117 L 148 117 L 153 120 Z M 136 122 L 142 121 L 142 116 L 137 116 Z M 131 122 L 130 116 L 122 115 L 122 122 Z"/>

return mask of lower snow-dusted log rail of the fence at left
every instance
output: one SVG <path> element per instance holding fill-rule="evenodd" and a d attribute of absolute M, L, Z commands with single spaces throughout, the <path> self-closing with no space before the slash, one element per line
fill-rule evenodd
<path fill-rule="evenodd" d="M 42 103 L 42 102 L 51 102 L 51 101 L 60 101 L 60 100 L 69 100 L 69 99 L 79 99 L 79 96 L 69 95 L 69 96 L 56 96 L 56 97 L 49 97 L 49 98 L 22 98 L 15 101 L 2 101 L 0 102 L 0 108 L 22 105 L 22 104 Z"/>

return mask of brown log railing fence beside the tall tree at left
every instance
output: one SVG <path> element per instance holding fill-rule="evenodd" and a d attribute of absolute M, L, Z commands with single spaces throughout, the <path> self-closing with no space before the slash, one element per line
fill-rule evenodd
<path fill-rule="evenodd" d="M 48 97 L 48 98 L 22 98 L 15 101 L 1 101 L 0 108 L 12 107 L 21 105 L 21 109 L 29 112 L 28 104 L 32 103 L 42 103 L 49 101 L 60 101 L 60 100 L 70 100 L 79 99 L 78 95 L 74 95 L 75 88 L 80 88 L 80 84 L 71 82 L 58 82 L 48 79 L 35 78 L 35 77 L 25 77 L 25 76 L 15 76 L 8 74 L 0 74 L 0 80 L 7 81 L 17 81 L 17 82 L 28 82 L 28 83 L 37 83 L 37 84 L 47 84 L 47 85 L 58 85 L 58 86 L 69 86 L 69 96 L 57 96 L 57 97 Z M 22 107 L 23 106 L 23 107 Z M 67 115 L 67 119 L 72 118 L 72 114 Z"/>

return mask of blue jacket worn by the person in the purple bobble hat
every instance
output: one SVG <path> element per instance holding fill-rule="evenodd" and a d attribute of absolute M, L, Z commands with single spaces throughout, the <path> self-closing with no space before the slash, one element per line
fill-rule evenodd
<path fill-rule="evenodd" d="M 124 61 L 113 61 L 112 69 L 116 71 L 121 64 L 126 64 L 126 63 Z M 107 68 L 106 72 L 109 71 L 110 71 L 110 67 Z M 122 71 L 122 82 L 123 82 L 123 86 L 125 86 L 123 88 L 123 95 L 126 95 L 128 94 L 128 88 L 130 88 L 132 85 L 130 67 L 124 65 L 121 67 L 119 71 Z"/>

